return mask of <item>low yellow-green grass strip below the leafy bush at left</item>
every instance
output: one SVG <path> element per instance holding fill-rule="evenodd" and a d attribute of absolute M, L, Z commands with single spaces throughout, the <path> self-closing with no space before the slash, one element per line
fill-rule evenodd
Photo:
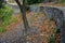
<path fill-rule="evenodd" d="M 5 20 L 2 23 L 2 26 L 0 27 L 0 32 L 5 32 L 6 31 L 6 26 L 9 26 L 12 23 L 16 23 L 17 19 L 16 18 L 11 18 L 9 20 Z"/>

